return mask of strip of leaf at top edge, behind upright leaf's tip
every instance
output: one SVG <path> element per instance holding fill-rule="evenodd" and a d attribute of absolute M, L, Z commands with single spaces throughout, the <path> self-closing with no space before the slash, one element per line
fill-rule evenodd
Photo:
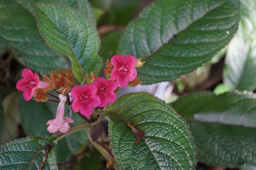
<path fill-rule="evenodd" d="M 34 3 L 46 3 L 45 0 L 16 0 L 19 4 L 25 6 L 29 12 L 35 14 L 34 9 L 32 8 L 32 4 Z M 71 8 L 75 8 L 79 10 L 79 12 L 83 13 L 87 16 L 94 25 L 96 25 L 96 18 L 94 16 L 94 12 L 88 0 L 47 0 L 47 4 L 60 4 L 64 6 L 70 6 Z"/>

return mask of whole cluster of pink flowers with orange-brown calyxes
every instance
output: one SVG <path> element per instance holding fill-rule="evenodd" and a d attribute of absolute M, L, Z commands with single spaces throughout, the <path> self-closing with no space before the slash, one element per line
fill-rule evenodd
<path fill-rule="evenodd" d="M 123 57 L 116 54 L 110 62 L 108 60 L 106 62 L 104 71 L 107 80 L 102 77 L 96 78 L 96 75 L 91 73 L 90 78 L 88 74 L 85 76 L 86 84 L 76 86 L 72 85 L 74 84 L 74 77 L 69 70 L 65 70 L 65 72 L 59 70 L 59 73 L 52 72 L 50 78 L 42 75 L 44 81 L 39 81 L 38 75 L 26 68 L 22 70 L 23 78 L 17 82 L 16 88 L 23 92 L 26 101 L 34 96 L 36 102 L 58 102 L 56 117 L 46 123 L 49 125 L 47 130 L 52 134 L 58 131 L 65 134 L 69 132 L 69 124 L 74 123 L 70 117 L 64 117 L 65 104 L 82 116 L 90 116 L 95 107 L 104 108 L 116 101 L 114 91 L 118 87 L 124 88 L 128 85 L 136 86 L 142 83 L 138 80 L 139 78 L 136 78 L 136 68 L 143 64 L 141 59 L 136 59 L 134 56 L 126 55 Z M 58 97 L 48 92 L 49 90 L 56 92 Z"/>

